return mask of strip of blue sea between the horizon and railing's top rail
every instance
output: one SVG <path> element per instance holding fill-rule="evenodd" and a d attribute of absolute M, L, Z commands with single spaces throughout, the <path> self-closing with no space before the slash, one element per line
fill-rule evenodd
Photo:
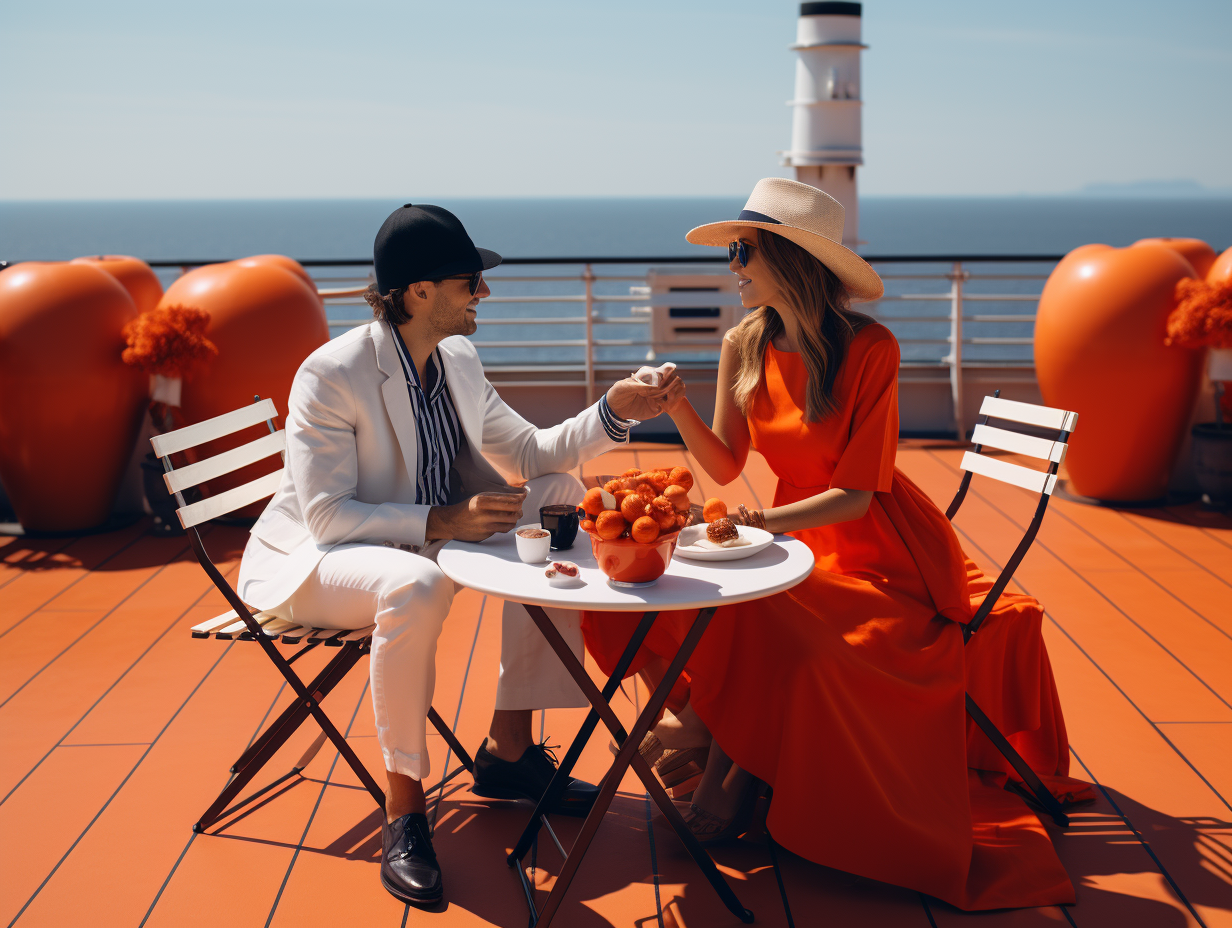
<path fill-rule="evenodd" d="M 0 261 L 131 254 L 207 260 L 280 253 L 368 258 L 398 200 L 0 202 Z M 694 226 L 734 217 L 743 197 L 434 198 L 472 238 L 510 258 L 713 254 L 690 245 Z M 865 197 L 869 255 L 1063 254 L 1101 242 L 1200 238 L 1232 245 L 1232 198 Z"/>

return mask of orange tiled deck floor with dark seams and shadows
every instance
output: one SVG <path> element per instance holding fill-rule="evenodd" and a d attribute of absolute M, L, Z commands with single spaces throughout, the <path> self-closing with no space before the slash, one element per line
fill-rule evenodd
<path fill-rule="evenodd" d="M 898 463 L 944 504 L 960 454 L 904 441 Z M 633 446 L 586 471 L 681 455 Z M 702 490 L 764 503 L 772 482 L 754 455 L 740 481 L 719 489 L 703 479 Z M 1032 507 L 1025 492 L 977 478 L 956 520 L 963 546 L 995 569 Z M 407 910 L 381 890 L 377 811 L 328 748 L 303 778 L 217 833 L 191 833 L 227 765 L 287 691 L 253 645 L 188 637 L 187 626 L 224 611 L 222 598 L 185 540 L 144 529 L 0 540 L 0 924 L 526 924 L 501 853 L 526 810 L 472 799 L 464 778 L 440 806 L 447 905 L 437 912 Z M 216 526 L 207 545 L 234 573 L 243 540 Z M 1073 773 L 1100 785 L 1068 832 L 1052 829 L 1078 905 L 968 914 L 785 855 L 796 924 L 1232 926 L 1232 520 L 1198 507 L 1112 511 L 1057 499 L 1018 582 L 1047 608 Z M 435 705 L 468 746 L 490 712 L 499 609 L 463 592 L 441 641 Z M 314 652 L 304 664 L 326 657 Z M 615 705 L 631 721 L 633 704 L 617 695 Z M 379 769 L 366 675 L 352 672 L 326 709 Z M 582 720 L 582 710 L 546 715 L 546 731 L 565 743 Z M 313 735 L 306 726 L 269 779 Z M 440 771 L 445 746 L 432 739 Z M 609 759 L 606 738 L 595 737 L 580 775 L 596 779 Z M 638 786 L 632 774 L 622 784 L 558 923 L 738 924 Z M 577 827 L 565 821 L 562 831 Z M 716 858 L 759 924 L 786 923 L 764 847 Z M 558 861 L 542 850 L 540 863 L 545 885 Z"/>

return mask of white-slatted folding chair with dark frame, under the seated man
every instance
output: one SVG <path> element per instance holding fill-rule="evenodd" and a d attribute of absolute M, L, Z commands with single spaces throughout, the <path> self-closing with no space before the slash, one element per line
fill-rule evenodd
<path fill-rule="evenodd" d="M 206 421 L 150 439 L 154 454 L 163 461 L 165 470 L 163 479 L 166 482 L 166 488 L 175 494 L 176 502 L 180 504 L 176 513 L 180 518 L 180 524 L 188 534 L 192 551 L 196 553 L 197 561 L 201 562 L 201 567 L 209 576 L 209 579 L 213 580 L 214 585 L 232 606 L 230 611 L 193 626 L 192 637 L 218 638 L 221 641 L 256 641 L 270 661 L 274 662 L 274 665 L 278 668 L 278 672 L 286 679 L 296 696 L 294 701 L 287 706 L 282 715 L 232 764 L 230 771 L 234 776 L 218 795 L 218 799 L 206 810 L 205 815 L 192 826 L 192 831 L 195 832 L 205 831 L 224 816 L 232 815 L 280 784 L 293 776 L 298 776 L 317 755 L 317 752 L 320 751 L 326 738 L 334 743 L 334 747 L 338 748 L 338 752 L 355 771 L 355 775 L 360 778 L 360 781 L 372 794 L 372 799 L 376 800 L 377 805 L 384 808 L 384 791 L 372 779 L 372 774 L 368 773 L 367 768 L 360 763 L 351 746 L 346 743 L 346 738 L 342 737 L 320 707 L 322 700 L 342 682 L 342 678 L 346 677 L 356 662 L 368 653 L 372 647 L 372 632 L 376 630 L 376 625 L 354 631 L 345 629 L 317 629 L 286 619 L 277 619 L 265 613 L 254 614 L 218 568 L 214 567 L 201 539 L 198 526 L 202 523 L 225 516 L 237 509 L 272 495 L 282 479 L 282 461 L 280 461 L 278 467 L 264 477 L 259 477 L 233 489 L 206 495 L 195 503 L 186 503 L 184 499 L 184 492 L 190 487 L 201 487 L 207 481 L 217 479 L 246 465 L 264 461 L 274 455 L 281 455 L 285 460 L 286 433 L 274 428 L 274 417 L 277 415 L 274 401 L 260 399 L 259 397 L 254 397 L 254 401 L 253 405 L 235 409 L 213 419 L 207 419 Z M 212 457 L 197 460 L 187 466 L 172 467 L 172 455 L 187 451 L 207 441 L 233 435 L 243 429 L 260 425 L 262 421 L 269 426 L 270 434 Z M 298 646 L 298 649 L 290 657 L 283 657 L 277 645 Z M 338 648 L 338 654 L 310 682 L 304 683 L 291 669 L 291 664 L 320 645 L 329 648 Z M 235 805 L 230 805 L 240 790 L 269 763 L 278 748 L 298 731 L 299 726 L 309 716 L 320 726 L 322 733 L 296 762 L 294 767 L 288 773 L 274 780 L 274 783 L 256 790 L 248 797 L 235 802 Z M 439 784 L 430 788 L 430 792 L 435 789 L 444 789 L 445 784 L 462 770 L 471 771 L 473 763 L 471 755 L 467 754 L 457 737 L 435 709 L 429 707 L 428 717 L 461 760 L 461 765 L 453 773 L 446 771 L 446 776 Z"/>

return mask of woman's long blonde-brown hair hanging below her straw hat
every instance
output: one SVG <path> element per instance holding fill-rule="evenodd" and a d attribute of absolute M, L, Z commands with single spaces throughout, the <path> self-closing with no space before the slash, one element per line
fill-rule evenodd
<path fill-rule="evenodd" d="M 872 317 L 855 312 L 843 281 L 795 242 L 758 229 L 756 246 L 779 292 L 792 301 L 800 319 L 800 356 L 808 371 L 804 418 L 819 421 L 834 412 L 834 378 L 853 335 Z M 779 312 L 763 306 L 744 317 L 729 336 L 740 360 L 733 393 L 745 417 L 761 386 L 766 346 L 784 330 Z"/>

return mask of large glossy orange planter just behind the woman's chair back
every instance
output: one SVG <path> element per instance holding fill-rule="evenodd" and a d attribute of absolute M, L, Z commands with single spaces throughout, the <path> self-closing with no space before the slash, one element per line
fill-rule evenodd
<path fill-rule="evenodd" d="M 1044 286 L 1035 371 L 1044 402 L 1078 413 L 1066 467 L 1071 488 L 1098 499 L 1158 499 L 1184 438 L 1202 352 L 1164 345 L 1177 250 L 1083 245 Z"/>

